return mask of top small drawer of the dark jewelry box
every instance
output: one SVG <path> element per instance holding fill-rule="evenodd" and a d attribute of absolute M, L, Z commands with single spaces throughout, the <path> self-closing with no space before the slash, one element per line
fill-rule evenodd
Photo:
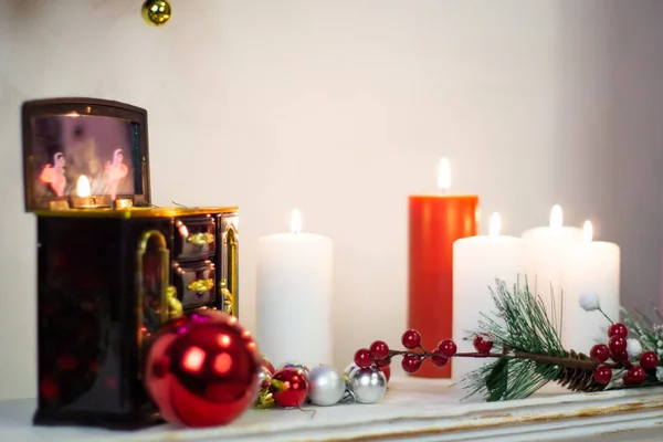
<path fill-rule="evenodd" d="M 175 259 L 198 260 L 215 251 L 217 223 L 211 215 L 178 218 L 175 221 Z"/>

